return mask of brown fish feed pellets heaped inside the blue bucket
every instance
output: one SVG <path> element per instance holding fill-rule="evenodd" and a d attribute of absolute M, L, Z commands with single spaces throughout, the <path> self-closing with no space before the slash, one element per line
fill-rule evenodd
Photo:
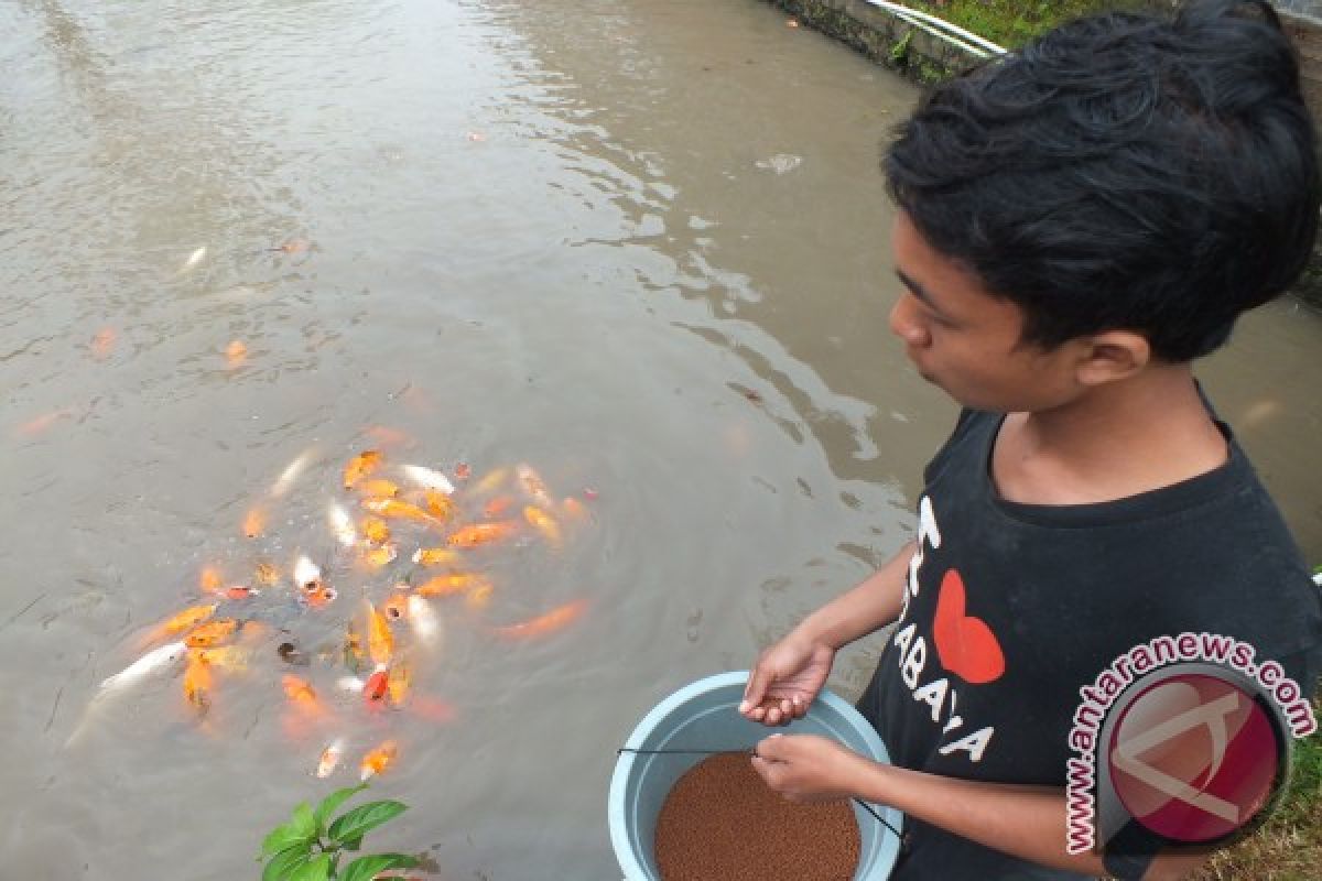
<path fill-rule="evenodd" d="M 657 818 L 664 881 L 850 881 L 861 851 L 849 802 L 791 802 L 744 753 L 690 767 Z"/>

